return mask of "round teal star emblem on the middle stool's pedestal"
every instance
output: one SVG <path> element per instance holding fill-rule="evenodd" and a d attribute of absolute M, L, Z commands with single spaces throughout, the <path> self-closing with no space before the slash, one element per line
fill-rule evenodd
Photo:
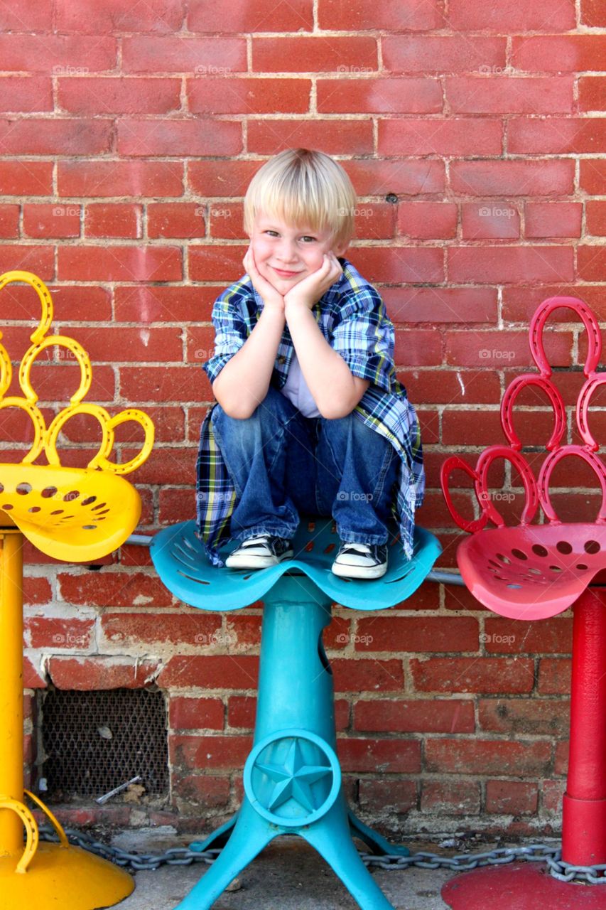
<path fill-rule="evenodd" d="M 340 786 L 337 756 L 308 731 L 281 731 L 250 753 L 245 788 L 257 811 L 280 824 L 328 812 Z"/>

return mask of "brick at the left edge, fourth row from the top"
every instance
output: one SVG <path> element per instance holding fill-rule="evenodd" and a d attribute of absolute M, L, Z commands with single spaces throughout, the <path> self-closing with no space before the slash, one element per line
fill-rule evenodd
<path fill-rule="evenodd" d="M 110 147 L 108 120 L 0 119 L 0 155 L 99 155 Z"/>

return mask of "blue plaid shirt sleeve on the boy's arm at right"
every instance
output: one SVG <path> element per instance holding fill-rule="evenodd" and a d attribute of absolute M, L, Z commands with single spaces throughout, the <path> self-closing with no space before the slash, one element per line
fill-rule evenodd
<path fill-rule="evenodd" d="M 394 330 L 385 304 L 371 285 L 350 292 L 333 328 L 331 347 L 338 351 L 354 376 L 393 390 Z"/>

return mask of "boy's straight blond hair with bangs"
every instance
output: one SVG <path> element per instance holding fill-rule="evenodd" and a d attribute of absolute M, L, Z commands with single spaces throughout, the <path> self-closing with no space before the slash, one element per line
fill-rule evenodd
<path fill-rule="evenodd" d="M 328 230 L 335 247 L 353 234 L 356 191 L 343 167 L 324 152 L 288 148 L 259 167 L 244 197 L 244 229 L 251 236 L 259 212 L 292 225 Z"/>

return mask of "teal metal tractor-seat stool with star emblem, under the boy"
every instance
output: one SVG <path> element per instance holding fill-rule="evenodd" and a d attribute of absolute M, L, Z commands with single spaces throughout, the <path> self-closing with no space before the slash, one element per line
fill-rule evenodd
<path fill-rule="evenodd" d="M 395 541 L 394 541 L 395 542 Z M 227 545 L 222 553 L 233 549 Z M 278 834 L 298 834 L 332 866 L 362 910 L 393 910 L 375 884 L 352 835 L 377 854 L 407 855 L 404 846 L 362 824 L 349 809 L 336 754 L 332 672 L 322 630 L 331 605 L 384 610 L 406 600 L 440 551 L 422 528 L 408 561 L 399 543 L 376 581 L 338 578 L 330 571 L 338 537 L 332 521 L 301 521 L 294 559 L 257 571 L 211 566 L 194 521 L 160 531 L 152 541 L 157 573 L 175 596 L 201 610 L 240 610 L 264 602 L 254 743 L 244 767 L 237 814 L 192 849 L 223 847 L 177 910 L 207 910 L 229 883 Z"/>

